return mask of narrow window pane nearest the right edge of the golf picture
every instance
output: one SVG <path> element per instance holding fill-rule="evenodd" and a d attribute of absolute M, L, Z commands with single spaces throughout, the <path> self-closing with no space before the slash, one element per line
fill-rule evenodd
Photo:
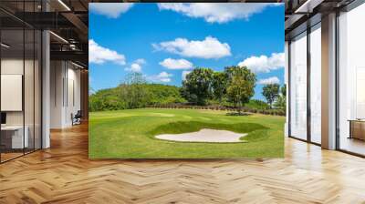
<path fill-rule="evenodd" d="M 290 43 L 290 136 L 307 140 L 307 33 Z"/>

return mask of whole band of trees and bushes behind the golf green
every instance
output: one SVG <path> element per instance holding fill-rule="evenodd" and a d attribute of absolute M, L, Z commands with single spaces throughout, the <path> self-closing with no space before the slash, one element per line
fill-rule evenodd
<path fill-rule="evenodd" d="M 114 110 L 151 105 L 218 105 L 257 109 L 286 107 L 286 87 L 263 87 L 266 102 L 251 99 L 255 95 L 256 76 L 245 66 L 228 66 L 224 71 L 197 67 L 185 76 L 182 87 L 149 84 L 141 73 L 130 73 L 120 86 L 99 90 L 89 96 L 89 110 Z"/>

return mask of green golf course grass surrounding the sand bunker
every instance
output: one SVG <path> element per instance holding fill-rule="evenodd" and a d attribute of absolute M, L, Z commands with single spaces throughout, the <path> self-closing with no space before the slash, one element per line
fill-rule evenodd
<path fill-rule="evenodd" d="M 196 109 L 141 108 L 92 112 L 89 158 L 281 158 L 285 117 L 226 116 Z M 201 128 L 248 133 L 242 143 L 173 142 L 154 138 L 164 133 Z"/>

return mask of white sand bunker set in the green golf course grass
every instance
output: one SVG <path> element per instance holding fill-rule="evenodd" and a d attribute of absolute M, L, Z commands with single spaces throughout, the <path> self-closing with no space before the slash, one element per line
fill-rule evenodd
<path fill-rule="evenodd" d="M 242 142 L 239 138 L 247 134 L 235 133 L 227 130 L 201 129 L 198 132 L 183 134 L 162 134 L 156 138 L 183 142 Z"/>

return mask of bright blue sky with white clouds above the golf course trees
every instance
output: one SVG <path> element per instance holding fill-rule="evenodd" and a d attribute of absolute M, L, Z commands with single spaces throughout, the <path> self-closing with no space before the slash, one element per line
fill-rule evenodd
<path fill-rule="evenodd" d="M 284 5 L 90 4 L 89 76 L 94 90 L 130 71 L 181 86 L 194 67 L 245 65 L 262 86 L 284 81 Z"/>

